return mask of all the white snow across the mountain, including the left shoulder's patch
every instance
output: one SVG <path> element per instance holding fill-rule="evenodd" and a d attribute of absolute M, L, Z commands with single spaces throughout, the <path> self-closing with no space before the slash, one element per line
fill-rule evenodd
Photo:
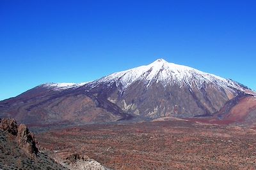
<path fill-rule="evenodd" d="M 205 73 L 192 67 L 169 63 L 164 59 L 157 59 L 147 66 L 135 67 L 126 71 L 120 71 L 86 83 L 45 83 L 41 85 L 50 90 L 77 89 L 83 85 L 90 88 L 98 87 L 102 83 L 111 86 L 115 83 L 118 90 L 125 91 L 132 84 L 142 82 L 143 87 L 150 87 L 154 83 L 160 83 L 164 88 L 179 85 L 180 88 L 202 89 L 213 85 L 216 89 L 236 93 L 236 90 L 255 95 L 250 89 L 230 79 L 221 78 L 214 74 Z"/>

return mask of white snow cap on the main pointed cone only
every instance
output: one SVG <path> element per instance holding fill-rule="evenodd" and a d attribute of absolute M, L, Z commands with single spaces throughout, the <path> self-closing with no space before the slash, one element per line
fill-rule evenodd
<path fill-rule="evenodd" d="M 248 92 L 248 89 L 245 89 L 236 83 L 236 81 L 221 78 L 214 74 L 204 73 L 192 67 L 169 63 L 163 59 L 157 59 L 147 66 L 140 66 L 127 71 L 110 74 L 97 81 L 93 81 L 91 84 L 97 85 L 99 83 L 116 82 L 117 85 L 121 84 L 122 90 L 125 90 L 129 85 L 139 80 L 143 80 L 147 87 L 152 82 L 161 83 L 164 87 L 173 84 L 178 84 L 180 87 L 192 87 L 192 84 L 195 83 L 196 87 L 201 89 L 204 85 L 213 83 L 216 87 L 221 87 L 231 92 L 234 92 L 234 89 L 246 91 L 247 93 L 251 92 L 250 90 Z"/>

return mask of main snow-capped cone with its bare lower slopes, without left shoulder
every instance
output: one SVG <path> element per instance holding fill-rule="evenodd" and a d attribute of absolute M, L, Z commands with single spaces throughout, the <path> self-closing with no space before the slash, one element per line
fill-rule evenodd
<path fill-rule="evenodd" d="M 235 81 L 163 59 L 111 74 L 81 88 L 100 92 L 128 113 L 150 118 L 211 115 L 239 93 L 254 94 Z"/>

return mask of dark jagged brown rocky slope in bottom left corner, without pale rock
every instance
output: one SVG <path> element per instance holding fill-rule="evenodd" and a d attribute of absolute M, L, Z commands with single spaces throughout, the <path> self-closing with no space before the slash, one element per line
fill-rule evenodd
<path fill-rule="evenodd" d="M 0 169 L 67 169 L 38 152 L 34 135 L 14 119 L 0 120 Z"/>

